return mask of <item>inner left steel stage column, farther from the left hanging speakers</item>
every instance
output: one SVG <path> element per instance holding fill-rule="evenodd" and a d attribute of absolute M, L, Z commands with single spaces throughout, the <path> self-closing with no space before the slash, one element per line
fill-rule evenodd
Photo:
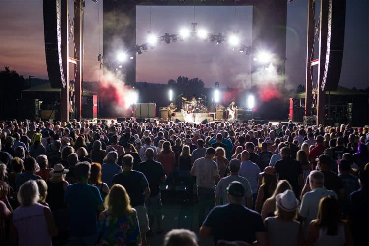
<path fill-rule="evenodd" d="M 74 81 L 74 118 L 81 119 L 81 110 L 82 110 L 82 68 L 83 68 L 83 28 L 82 28 L 82 19 L 83 19 L 83 1 L 76 0 L 74 2 L 75 9 L 75 19 L 74 19 L 74 43 L 76 45 L 76 52 L 74 54 L 74 58 L 77 61 L 77 64 L 74 65 L 74 72 L 76 74 L 76 78 Z"/>

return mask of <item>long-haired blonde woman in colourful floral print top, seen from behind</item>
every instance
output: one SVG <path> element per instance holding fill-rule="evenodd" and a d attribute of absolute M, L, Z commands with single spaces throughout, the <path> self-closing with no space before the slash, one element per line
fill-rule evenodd
<path fill-rule="evenodd" d="M 141 245 L 137 212 L 130 205 L 125 188 L 114 184 L 99 216 L 98 245 Z"/>

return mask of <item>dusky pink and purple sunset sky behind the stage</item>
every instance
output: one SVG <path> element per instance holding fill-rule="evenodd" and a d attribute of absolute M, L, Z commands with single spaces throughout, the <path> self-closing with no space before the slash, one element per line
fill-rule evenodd
<path fill-rule="evenodd" d="M 102 4 L 86 0 L 84 80 L 98 80 L 97 55 L 102 53 Z M 100 23 L 98 22 L 98 5 Z M 286 85 L 305 83 L 307 0 L 287 4 Z M 150 7 L 137 8 L 137 43 L 146 40 L 149 31 Z M 364 88 L 369 74 L 369 1 L 347 0 L 345 50 L 340 85 Z M 198 26 L 211 33 L 228 34 L 235 28 L 234 7 L 197 7 Z M 176 33 L 182 26 L 190 28 L 193 7 L 153 7 L 153 33 Z M 252 8 L 237 7 L 237 31 L 242 43 L 250 44 Z M 237 74 L 250 71 L 250 57 L 232 51 L 227 44 L 187 40 L 162 43 L 137 57 L 136 80 L 167 83 L 179 75 L 199 77 L 211 87 L 215 81 L 238 84 Z M 0 0 L 0 67 L 9 66 L 18 73 L 47 78 L 43 35 L 42 0 Z M 223 85 L 226 86 L 226 85 Z"/>

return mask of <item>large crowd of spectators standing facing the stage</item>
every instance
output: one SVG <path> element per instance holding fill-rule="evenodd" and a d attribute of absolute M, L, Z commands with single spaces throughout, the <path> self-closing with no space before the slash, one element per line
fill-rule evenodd
<path fill-rule="evenodd" d="M 368 155 L 368 126 L 0 121 L 0 244 L 148 245 L 182 184 L 166 246 L 369 245 Z"/>

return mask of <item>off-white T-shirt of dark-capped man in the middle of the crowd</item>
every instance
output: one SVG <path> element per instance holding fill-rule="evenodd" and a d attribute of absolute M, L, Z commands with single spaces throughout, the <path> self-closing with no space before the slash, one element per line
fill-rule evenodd
<path fill-rule="evenodd" d="M 219 177 L 216 162 L 206 157 L 199 158 L 193 163 L 191 173 L 196 176 L 197 187 L 214 189 L 214 177 Z"/>

